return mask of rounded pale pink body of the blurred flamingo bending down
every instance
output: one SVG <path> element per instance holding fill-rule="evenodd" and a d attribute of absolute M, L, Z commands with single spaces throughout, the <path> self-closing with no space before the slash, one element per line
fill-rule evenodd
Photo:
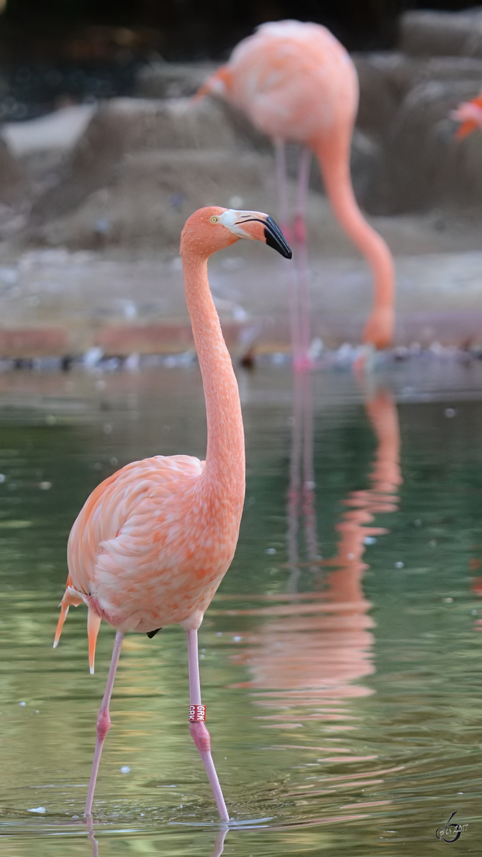
<path fill-rule="evenodd" d="M 229 99 L 264 134 L 310 145 L 346 127 L 351 132 L 358 78 L 344 47 L 326 27 L 300 21 L 262 24 L 232 51 L 224 68 Z"/>

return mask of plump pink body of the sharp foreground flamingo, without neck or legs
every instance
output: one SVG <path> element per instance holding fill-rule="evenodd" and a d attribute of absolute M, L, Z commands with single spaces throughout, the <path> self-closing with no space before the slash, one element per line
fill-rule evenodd
<path fill-rule="evenodd" d="M 122 632 L 200 618 L 229 567 L 244 500 L 205 497 L 204 462 L 187 455 L 127 464 L 93 491 L 69 537 L 67 591 Z"/>

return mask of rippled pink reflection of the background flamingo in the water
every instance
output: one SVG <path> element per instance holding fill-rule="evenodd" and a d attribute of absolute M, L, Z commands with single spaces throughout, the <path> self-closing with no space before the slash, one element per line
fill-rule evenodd
<path fill-rule="evenodd" d="M 236 659 L 246 664 L 253 678 L 244 686 L 256 689 L 256 701 L 272 708 L 279 701 L 283 712 L 267 717 L 271 728 L 295 728 L 304 720 L 351 720 L 336 707 L 340 699 L 365 696 L 371 689 L 358 680 L 374 672 L 371 656 L 374 622 L 368 614 L 362 577 L 367 536 L 388 530 L 373 526 L 378 512 L 395 512 L 401 484 L 400 432 L 395 402 L 383 389 L 371 396 L 365 410 L 377 437 L 377 452 L 370 473 L 370 488 L 352 491 L 344 500 L 336 529 L 340 533 L 333 559 L 317 556 L 315 483 L 313 478 L 310 375 L 295 377 L 292 474 L 288 493 L 288 545 L 290 592 L 264 596 L 274 604 L 240 611 L 258 615 L 259 630 L 245 635 L 248 647 Z M 298 522 L 304 522 L 308 559 L 298 561 Z M 300 569 L 310 570 L 318 586 L 298 592 Z M 322 578 L 322 568 L 328 576 Z M 279 603 L 281 602 L 281 603 Z M 315 706 L 313 713 L 302 709 Z M 290 710 L 292 709 L 292 710 Z M 350 729 L 350 725 L 337 728 Z M 354 760 L 350 757 L 350 760 Z"/>

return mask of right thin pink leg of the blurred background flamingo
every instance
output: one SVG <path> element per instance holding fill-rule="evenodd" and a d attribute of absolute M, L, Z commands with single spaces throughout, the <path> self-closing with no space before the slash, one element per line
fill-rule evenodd
<path fill-rule="evenodd" d="M 306 147 L 301 153 L 298 176 L 298 194 L 294 215 L 294 239 L 298 256 L 298 302 L 300 354 L 295 369 L 312 369 L 310 351 L 310 283 L 306 252 L 306 199 L 310 185 L 311 153 Z"/>

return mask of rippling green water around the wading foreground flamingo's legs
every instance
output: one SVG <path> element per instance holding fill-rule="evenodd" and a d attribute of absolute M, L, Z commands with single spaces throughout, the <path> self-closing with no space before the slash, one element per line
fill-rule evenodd
<path fill-rule="evenodd" d="M 301 524 L 300 562 L 288 562 L 289 370 L 239 380 L 246 507 L 200 631 L 214 760 L 237 821 L 224 854 L 418 857 L 446 848 L 435 832 L 455 810 L 468 826 L 453 851 L 479 854 L 482 367 L 420 359 L 377 378 L 401 430 L 403 482 L 390 502 L 375 497 L 366 395 L 347 372 L 314 376 L 323 560 L 340 550 L 353 498 L 385 502 L 362 525 L 386 531 L 339 578 L 337 566 L 307 561 Z M 117 466 L 204 449 L 196 368 L 0 375 L 3 857 L 96 847 L 81 815 L 113 630 L 101 627 L 93 676 L 85 608 L 71 609 L 51 648 L 75 515 Z M 188 701 L 184 632 L 128 635 L 94 800 L 100 857 L 220 854 Z"/>

